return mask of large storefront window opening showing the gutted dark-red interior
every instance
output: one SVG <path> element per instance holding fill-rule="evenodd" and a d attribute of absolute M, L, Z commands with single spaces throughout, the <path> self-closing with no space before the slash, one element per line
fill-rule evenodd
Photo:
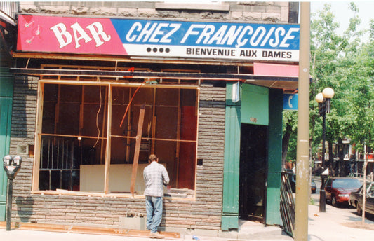
<path fill-rule="evenodd" d="M 129 193 L 142 106 L 145 116 L 135 193 L 144 191 L 142 170 L 150 153 L 156 153 L 166 166 L 171 188 L 194 190 L 197 88 L 145 85 L 135 95 L 136 87 L 105 83 L 44 81 L 40 88 L 43 111 L 36 128 L 40 137 L 39 161 L 34 167 L 39 173 L 34 175 L 36 190 Z M 108 171 L 106 163 L 110 163 Z M 107 190 L 105 172 L 109 172 Z"/>

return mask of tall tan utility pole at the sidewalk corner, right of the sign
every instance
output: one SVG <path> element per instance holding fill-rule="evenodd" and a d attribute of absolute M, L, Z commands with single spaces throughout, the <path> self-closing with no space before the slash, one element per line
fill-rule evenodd
<path fill-rule="evenodd" d="M 296 154 L 295 241 L 308 240 L 310 3 L 300 3 L 298 143 Z"/>

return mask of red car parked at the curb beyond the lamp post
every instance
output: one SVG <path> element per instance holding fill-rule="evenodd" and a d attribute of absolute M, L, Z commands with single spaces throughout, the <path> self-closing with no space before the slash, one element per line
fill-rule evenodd
<path fill-rule="evenodd" d="M 326 180 L 326 202 L 336 207 L 338 204 L 348 203 L 349 194 L 357 191 L 361 182 L 352 177 L 332 177 Z"/>

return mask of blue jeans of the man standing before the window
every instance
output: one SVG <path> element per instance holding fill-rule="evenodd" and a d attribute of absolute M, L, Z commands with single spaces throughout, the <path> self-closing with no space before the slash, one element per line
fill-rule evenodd
<path fill-rule="evenodd" d="M 156 233 L 162 219 L 162 197 L 145 196 L 145 211 L 147 212 L 147 229 Z"/>

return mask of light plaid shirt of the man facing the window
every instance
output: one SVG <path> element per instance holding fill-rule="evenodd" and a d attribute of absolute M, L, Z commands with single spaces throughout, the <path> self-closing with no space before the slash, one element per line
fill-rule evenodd
<path fill-rule="evenodd" d="M 163 186 L 169 184 L 169 176 L 166 168 L 153 161 L 143 171 L 145 181 L 144 195 L 163 197 Z"/>

